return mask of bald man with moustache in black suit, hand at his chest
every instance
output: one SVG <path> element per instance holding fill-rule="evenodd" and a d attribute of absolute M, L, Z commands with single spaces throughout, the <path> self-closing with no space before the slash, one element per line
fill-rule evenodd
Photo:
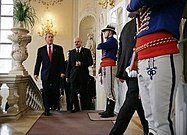
<path fill-rule="evenodd" d="M 91 52 L 89 49 L 81 46 L 82 41 L 79 37 L 74 39 L 75 49 L 69 52 L 69 61 L 67 65 L 67 80 L 70 81 L 70 107 L 72 112 L 80 111 L 77 94 L 80 94 L 81 109 L 90 108 L 89 93 L 87 83 L 89 79 L 88 67 L 93 64 Z M 73 109 L 74 106 L 74 109 Z"/>

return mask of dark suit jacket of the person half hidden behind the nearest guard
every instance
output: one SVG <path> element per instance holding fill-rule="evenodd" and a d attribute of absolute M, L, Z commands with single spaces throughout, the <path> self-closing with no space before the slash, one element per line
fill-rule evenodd
<path fill-rule="evenodd" d="M 132 19 L 122 29 L 119 38 L 119 50 L 117 59 L 116 77 L 120 79 L 127 79 L 128 75 L 125 71 L 126 67 L 130 65 L 130 60 L 135 46 L 136 36 L 136 20 Z"/>

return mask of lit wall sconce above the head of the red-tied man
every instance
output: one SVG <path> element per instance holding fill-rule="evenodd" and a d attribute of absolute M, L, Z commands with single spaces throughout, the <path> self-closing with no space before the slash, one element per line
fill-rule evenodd
<path fill-rule="evenodd" d="M 42 22 L 42 25 L 38 30 L 38 35 L 41 37 L 43 37 L 46 33 L 53 33 L 54 36 L 57 34 L 52 20 L 47 19 L 45 23 Z"/>

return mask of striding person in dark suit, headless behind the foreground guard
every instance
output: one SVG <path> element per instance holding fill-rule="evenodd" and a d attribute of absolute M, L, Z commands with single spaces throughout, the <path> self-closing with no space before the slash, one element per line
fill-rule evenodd
<path fill-rule="evenodd" d="M 131 61 L 133 47 L 135 46 L 135 35 L 136 20 L 132 19 L 124 26 L 120 35 L 116 73 L 116 77 L 119 78 L 122 83 L 124 80 L 126 81 L 128 90 L 125 101 L 118 113 L 116 123 L 114 124 L 110 135 L 123 135 L 135 111 L 137 111 L 140 117 L 144 135 L 148 135 L 148 122 L 145 119 L 142 102 L 139 98 L 138 80 L 136 77 L 137 73 L 136 71 L 127 73 L 125 70 Z"/>

